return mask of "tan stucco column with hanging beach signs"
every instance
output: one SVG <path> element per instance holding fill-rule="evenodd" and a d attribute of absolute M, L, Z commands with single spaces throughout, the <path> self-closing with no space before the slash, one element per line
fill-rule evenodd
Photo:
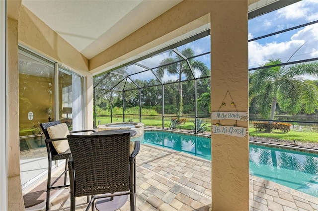
<path fill-rule="evenodd" d="M 211 8 L 211 112 L 236 111 L 231 96 L 238 111 L 248 111 L 247 20 L 247 0 L 219 0 Z M 237 124 L 248 128 L 248 121 Z M 248 135 L 212 134 L 212 210 L 247 211 L 248 178 Z"/>

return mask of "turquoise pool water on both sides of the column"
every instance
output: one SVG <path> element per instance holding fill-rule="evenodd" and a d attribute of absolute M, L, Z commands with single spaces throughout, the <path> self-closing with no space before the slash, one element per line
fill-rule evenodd
<path fill-rule="evenodd" d="M 145 131 L 142 143 L 211 160 L 210 138 Z M 318 197 L 317 154 L 249 145 L 249 173 Z"/>

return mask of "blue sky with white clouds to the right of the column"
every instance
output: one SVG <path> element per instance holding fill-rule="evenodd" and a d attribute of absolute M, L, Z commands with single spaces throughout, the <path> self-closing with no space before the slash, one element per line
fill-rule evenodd
<path fill-rule="evenodd" d="M 302 0 L 250 19 L 248 39 L 315 20 L 318 20 L 318 0 Z M 318 23 L 248 43 L 249 68 L 258 67 L 270 58 L 287 62 L 315 57 L 318 57 Z"/>

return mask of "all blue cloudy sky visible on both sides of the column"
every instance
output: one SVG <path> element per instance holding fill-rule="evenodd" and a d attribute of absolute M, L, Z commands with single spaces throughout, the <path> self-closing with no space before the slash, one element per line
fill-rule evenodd
<path fill-rule="evenodd" d="M 318 0 L 301 0 L 248 20 L 248 39 L 316 20 L 318 20 Z M 198 55 L 210 52 L 210 47 L 210 36 L 207 36 L 177 49 L 181 52 L 184 48 L 191 48 L 195 55 Z M 159 66 L 160 61 L 167 57 L 171 57 L 169 52 L 161 53 L 139 63 L 153 68 Z M 271 58 L 280 58 L 282 62 L 287 62 L 316 57 L 318 57 L 318 23 L 248 43 L 248 68 L 259 67 Z M 208 68 L 211 67 L 210 54 L 196 59 L 204 62 Z M 129 68 L 130 73 L 143 70 L 140 67 L 137 69 L 136 65 Z M 195 72 L 195 75 L 199 76 L 198 71 Z M 148 71 L 132 76 L 132 79 L 137 78 L 149 80 L 155 79 L 155 76 Z M 177 79 L 178 77 L 175 75 L 165 74 L 162 81 Z"/>

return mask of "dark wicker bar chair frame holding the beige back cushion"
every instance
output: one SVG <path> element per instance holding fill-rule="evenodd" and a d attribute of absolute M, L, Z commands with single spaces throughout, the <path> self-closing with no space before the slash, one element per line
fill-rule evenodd
<path fill-rule="evenodd" d="M 55 148 L 53 147 L 52 142 L 54 141 L 61 141 L 61 140 L 66 140 L 65 138 L 56 138 L 56 139 L 51 139 L 50 135 L 48 133 L 48 128 L 57 124 L 61 124 L 60 121 L 53 121 L 53 122 L 45 122 L 45 123 L 40 123 L 40 126 L 42 128 L 42 131 L 45 135 L 45 145 L 46 145 L 46 150 L 48 152 L 48 160 L 49 160 L 49 166 L 48 166 L 48 181 L 47 181 L 47 189 L 46 189 L 46 208 L 45 210 L 48 211 L 50 207 L 50 191 L 52 189 L 57 189 L 57 188 L 64 188 L 64 187 L 69 187 L 70 185 L 66 184 L 67 180 L 67 171 L 68 171 L 68 159 L 71 156 L 71 151 L 68 150 L 64 153 L 57 153 Z M 71 131 L 70 133 L 81 133 L 81 132 L 95 132 L 94 130 L 80 130 L 80 131 Z M 65 159 L 65 170 L 63 173 L 51 184 L 51 174 L 52 174 L 52 160 L 62 160 Z M 64 185 L 62 186 L 54 186 L 54 184 L 59 180 L 64 174 Z"/>

